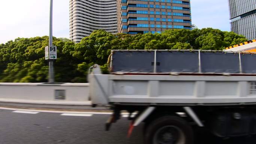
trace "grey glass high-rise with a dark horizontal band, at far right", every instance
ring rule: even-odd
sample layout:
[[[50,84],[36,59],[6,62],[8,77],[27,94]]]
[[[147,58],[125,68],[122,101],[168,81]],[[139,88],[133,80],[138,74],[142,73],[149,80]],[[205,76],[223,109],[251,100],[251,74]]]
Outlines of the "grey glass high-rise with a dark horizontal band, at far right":
[[[256,39],[256,0],[228,0],[231,31]]]

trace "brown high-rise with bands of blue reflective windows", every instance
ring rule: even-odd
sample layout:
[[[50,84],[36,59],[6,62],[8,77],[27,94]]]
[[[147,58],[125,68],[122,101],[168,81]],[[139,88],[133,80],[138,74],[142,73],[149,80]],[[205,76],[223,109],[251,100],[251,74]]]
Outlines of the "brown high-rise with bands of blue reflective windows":
[[[190,0],[117,0],[118,33],[191,30]]]

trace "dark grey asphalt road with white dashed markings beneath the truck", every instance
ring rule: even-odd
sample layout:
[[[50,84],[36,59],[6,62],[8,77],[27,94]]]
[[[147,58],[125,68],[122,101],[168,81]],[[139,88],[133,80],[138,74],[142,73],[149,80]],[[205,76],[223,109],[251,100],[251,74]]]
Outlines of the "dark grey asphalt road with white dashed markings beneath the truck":
[[[122,117],[104,131],[109,114],[69,114],[0,109],[0,144],[143,144],[143,124],[127,138],[129,121]],[[195,144],[255,144],[256,137],[222,140],[202,129]]]

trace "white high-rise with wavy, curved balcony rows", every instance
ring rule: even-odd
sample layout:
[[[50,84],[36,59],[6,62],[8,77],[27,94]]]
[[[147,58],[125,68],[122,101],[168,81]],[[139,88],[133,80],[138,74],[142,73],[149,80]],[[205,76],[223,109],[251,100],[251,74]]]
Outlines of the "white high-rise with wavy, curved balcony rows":
[[[117,33],[116,0],[70,0],[70,40],[80,42],[94,30]]]

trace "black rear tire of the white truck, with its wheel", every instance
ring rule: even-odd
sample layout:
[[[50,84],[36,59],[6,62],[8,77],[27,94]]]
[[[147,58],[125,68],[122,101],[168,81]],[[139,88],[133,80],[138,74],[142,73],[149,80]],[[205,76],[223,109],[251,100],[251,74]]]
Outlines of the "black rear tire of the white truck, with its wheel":
[[[180,117],[159,117],[147,126],[144,144],[193,144],[193,130]]]

